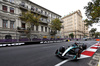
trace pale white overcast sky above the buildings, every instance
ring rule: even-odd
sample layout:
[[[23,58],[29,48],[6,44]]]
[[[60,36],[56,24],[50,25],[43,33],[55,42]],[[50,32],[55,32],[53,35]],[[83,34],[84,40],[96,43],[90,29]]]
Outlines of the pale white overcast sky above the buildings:
[[[86,19],[85,9],[88,2],[92,0],[30,0],[50,11],[53,11],[62,17],[76,11],[80,10],[83,16],[83,20]],[[99,28],[98,24],[94,24],[92,28]],[[98,31],[100,31],[98,29]]]

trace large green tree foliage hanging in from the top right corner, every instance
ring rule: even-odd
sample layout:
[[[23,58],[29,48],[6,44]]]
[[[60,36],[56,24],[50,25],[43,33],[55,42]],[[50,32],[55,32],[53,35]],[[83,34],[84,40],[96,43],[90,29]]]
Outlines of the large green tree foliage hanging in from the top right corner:
[[[100,0],[92,0],[88,2],[88,6],[85,6],[87,19],[86,25],[92,26],[93,23],[98,23],[100,20]]]

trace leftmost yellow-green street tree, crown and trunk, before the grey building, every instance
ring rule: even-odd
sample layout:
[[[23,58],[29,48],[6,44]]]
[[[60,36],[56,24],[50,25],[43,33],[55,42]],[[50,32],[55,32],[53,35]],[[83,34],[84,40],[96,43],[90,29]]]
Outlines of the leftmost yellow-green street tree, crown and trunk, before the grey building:
[[[22,12],[22,15],[19,17],[22,21],[26,22],[28,24],[28,28],[27,28],[27,36],[28,38],[30,38],[31,35],[31,31],[33,28],[33,25],[38,26],[39,25],[39,21],[40,21],[40,16],[39,15],[34,15],[33,13],[31,13],[31,11],[27,11],[27,12]]]

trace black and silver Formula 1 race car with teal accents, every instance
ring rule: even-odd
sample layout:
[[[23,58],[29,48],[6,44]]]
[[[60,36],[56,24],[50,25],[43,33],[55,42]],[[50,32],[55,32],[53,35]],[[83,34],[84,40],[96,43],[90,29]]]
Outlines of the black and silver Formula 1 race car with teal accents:
[[[74,43],[72,46],[69,46],[65,49],[64,46],[60,47],[56,50],[55,54],[57,57],[62,59],[70,59],[70,60],[77,60],[80,57],[83,50],[87,48],[87,45],[84,43]]]

